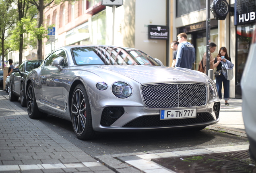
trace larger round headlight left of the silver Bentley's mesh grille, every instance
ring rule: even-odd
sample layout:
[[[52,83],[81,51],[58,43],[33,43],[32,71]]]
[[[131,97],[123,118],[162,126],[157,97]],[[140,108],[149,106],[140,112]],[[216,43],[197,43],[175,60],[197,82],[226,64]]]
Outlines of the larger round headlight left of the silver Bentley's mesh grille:
[[[132,87],[125,82],[115,82],[112,85],[112,93],[121,99],[125,99],[132,95]]]

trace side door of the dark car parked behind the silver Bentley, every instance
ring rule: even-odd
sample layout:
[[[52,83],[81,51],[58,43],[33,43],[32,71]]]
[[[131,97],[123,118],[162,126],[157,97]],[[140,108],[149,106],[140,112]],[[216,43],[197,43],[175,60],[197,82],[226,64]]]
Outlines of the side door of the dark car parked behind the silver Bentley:
[[[18,95],[18,96],[20,96],[21,80],[25,72],[25,63],[26,62],[22,62],[21,65],[19,66],[20,73],[19,72],[12,73],[12,76],[13,76],[12,91],[15,93],[15,95]]]

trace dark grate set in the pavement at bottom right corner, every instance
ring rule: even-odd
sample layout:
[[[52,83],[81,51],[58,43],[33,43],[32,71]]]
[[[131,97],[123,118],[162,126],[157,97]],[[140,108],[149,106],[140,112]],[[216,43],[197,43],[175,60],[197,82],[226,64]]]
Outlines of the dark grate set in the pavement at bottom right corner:
[[[256,173],[248,150],[152,159],[176,173]]]

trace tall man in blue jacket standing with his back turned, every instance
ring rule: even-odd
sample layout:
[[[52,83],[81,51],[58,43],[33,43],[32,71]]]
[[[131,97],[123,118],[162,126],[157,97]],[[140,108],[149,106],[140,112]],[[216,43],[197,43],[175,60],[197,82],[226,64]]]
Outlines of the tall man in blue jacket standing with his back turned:
[[[175,67],[192,69],[192,64],[196,60],[196,50],[190,42],[187,41],[187,34],[182,32],[177,36],[178,45]]]

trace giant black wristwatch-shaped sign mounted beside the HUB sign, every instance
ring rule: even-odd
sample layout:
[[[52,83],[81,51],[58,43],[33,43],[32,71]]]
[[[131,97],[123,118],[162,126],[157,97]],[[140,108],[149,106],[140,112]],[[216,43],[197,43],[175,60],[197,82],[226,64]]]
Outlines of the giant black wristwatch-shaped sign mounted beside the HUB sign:
[[[229,4],[226,0],[213,0],[210,9],[216,20],[225,20],[229,12]]]

